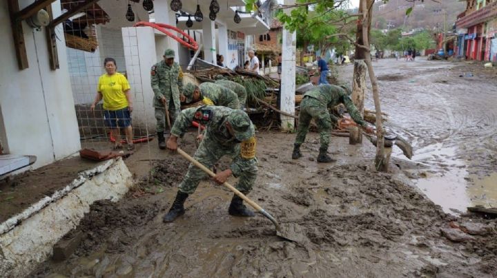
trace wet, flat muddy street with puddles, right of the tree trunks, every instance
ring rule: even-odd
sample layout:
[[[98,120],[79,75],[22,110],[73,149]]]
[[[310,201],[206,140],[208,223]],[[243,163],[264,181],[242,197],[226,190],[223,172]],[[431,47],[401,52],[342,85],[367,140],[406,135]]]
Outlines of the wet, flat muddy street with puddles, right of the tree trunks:
[[[448,213],[496,207],[497,71],[424,57],[373,65],[387,126],[413,144],[418,165],[402,165],[405,173]],[[351,78],[352,65],[338,69],[344,80]],[[374,107],[371,96],[366,107]]]

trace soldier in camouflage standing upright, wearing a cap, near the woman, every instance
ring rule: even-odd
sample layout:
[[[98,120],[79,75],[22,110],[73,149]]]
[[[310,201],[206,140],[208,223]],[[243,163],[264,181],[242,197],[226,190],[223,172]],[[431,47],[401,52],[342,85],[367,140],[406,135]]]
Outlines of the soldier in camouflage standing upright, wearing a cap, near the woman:
[[[183,72],[181,67],[174,61],[174,50],[167,49],[164,52],[164,60],[153,65],[150,71],[150,81],[154,92],[153,107],[155,108],[155,119],[157,120],[157,139],[160,149],[166,149],[164,129],[166,127],[166,109],[168,106],[171,125],[175,122],[180,111],[180,99],[183,91]]]

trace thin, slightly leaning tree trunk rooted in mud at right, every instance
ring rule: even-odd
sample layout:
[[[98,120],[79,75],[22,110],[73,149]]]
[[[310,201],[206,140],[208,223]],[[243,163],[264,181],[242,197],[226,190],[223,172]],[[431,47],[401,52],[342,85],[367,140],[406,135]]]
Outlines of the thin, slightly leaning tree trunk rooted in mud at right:
[[[362,41],[363,45],[369,47],[369,26],[371,25],[371,17],[369,16],[369,7],[372,7],[374,0],[361,0],[361,7],[363,10],[362,15]],[[365,23],[365,24],[364,24]],[[376,158],[375,167],[378,171],[388,171],[388,158],[385,156],[384,151],[384,131],[381,116],[380,107],[380,92],[378,92],[378,80],[374,74],[373,64],[371,63],[371,52],[365,51],[365,60],[369,74],[369,80],[371,81],[371,87],[373,87],[373,100],[376,109]]]

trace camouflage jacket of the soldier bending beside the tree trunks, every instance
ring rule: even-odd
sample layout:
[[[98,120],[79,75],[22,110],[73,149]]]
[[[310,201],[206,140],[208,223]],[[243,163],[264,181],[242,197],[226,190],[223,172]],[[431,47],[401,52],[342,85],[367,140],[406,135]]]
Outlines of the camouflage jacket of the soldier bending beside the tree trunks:
[[[352,102],[352,98],[345,92],[344,89],[335,85],[319,85],[307,91],[304,96],[310,96],[319,100],[320,105],[327,108],[333,108],[340,103],[345,105],[349,115],[359,125],[365,127],[367,124],[362,119],[358,109]]]

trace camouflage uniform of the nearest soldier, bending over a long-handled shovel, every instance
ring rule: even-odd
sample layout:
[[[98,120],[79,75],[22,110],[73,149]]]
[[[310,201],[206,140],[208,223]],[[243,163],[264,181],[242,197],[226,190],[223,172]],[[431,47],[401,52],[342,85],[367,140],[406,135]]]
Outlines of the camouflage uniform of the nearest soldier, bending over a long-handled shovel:
[[[235,188],[245,194],[249,193],[257,177],[255,131],[249,116],[246,116],[244,111],[233,110],[228,107],[201,106],[188,108],[179,114],[173,129],[171,129],[171,134],[177,137],[184,136],[193,120],[206,125],[204,139],[195,152],[194,158],[207,168],[212,168],[222,156],[230,156],[233,158],[230,169],[233,175],[239,178]],[[230,122],[231,126],[234,127],[235,137],[231,136],[226,128],[226,121]],[[237,133],[235,126],[244,126],[246,131]],[[206,177],[207,174],[204,171],[190,164],[188,172],[181,184],[179,184],[179,191],[192,194],[197,189],[200,180]]]

